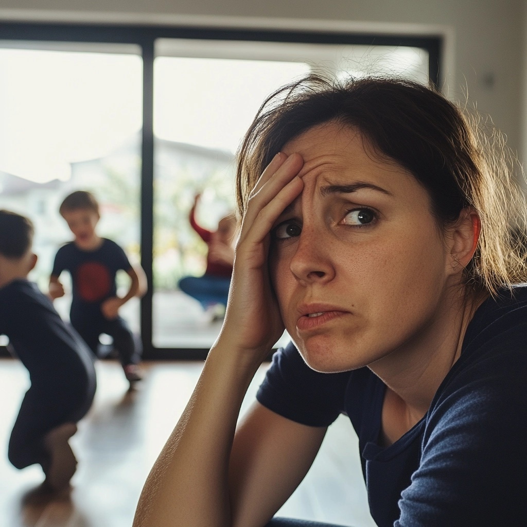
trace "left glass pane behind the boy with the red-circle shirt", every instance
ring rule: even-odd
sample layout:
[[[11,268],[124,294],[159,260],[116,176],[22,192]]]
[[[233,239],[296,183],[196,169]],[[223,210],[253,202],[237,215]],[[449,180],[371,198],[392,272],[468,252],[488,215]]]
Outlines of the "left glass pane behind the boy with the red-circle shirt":
[[[32,44],[35,46],[35,44]],[[89,190],[101,205],[97,232],[139,263],[142,59],[137,46],[86,45],[90,51],[16,48],[0,42],[0,207],[30,217],[38,264],[30,279],[47,292],[57,248],[72,239],[58,213],[74,190]],[[39,47],[41,44],[39,44]],[[72,44],[76,50],[82,45]],[[121,272],[121,271],[120,271]],[[71,284],[64,273],[67,291]],[[124,272],[121,289],[128,287]],[[55,300],[69,318],[71,295]],[[139,331],[139,300],[122,307]]]

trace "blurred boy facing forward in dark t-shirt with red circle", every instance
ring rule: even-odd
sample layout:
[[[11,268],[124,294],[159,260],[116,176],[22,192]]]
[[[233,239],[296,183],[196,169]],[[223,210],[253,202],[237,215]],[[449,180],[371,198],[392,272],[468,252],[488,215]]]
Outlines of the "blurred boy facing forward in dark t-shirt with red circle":
[[[99,203],[90,192],[77,190],[62,202],[59,212],[73,232],[74,240],[58,249],[50,277],[50,296],[64,295],[58,280],[67,270],[72,277],[70,320],[94,355],[99,352],[101,333],[113,338],[126,379],[130,385],[141,379],[138,363],[141,350],[119,308],[130,298],[142,296],[146,280],[140,266],[132,266],[123,249],[96,233]],[[131,279],[124,297],[117,296],[115,276],[124,270]]]

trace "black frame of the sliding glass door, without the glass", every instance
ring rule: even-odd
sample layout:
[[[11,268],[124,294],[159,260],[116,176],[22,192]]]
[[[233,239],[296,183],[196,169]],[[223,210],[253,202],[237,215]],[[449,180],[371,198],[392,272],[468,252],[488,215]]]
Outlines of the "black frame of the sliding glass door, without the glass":
[[[428,75],[431,82],[441,84],[442,38],[437,35],[372,34],[344,31],[261,30],[253,28],[219,28],[199,26],[115,25],[115,24],[51,24],[1,22],[0,40],[61,43],[135,44],[141,48],[143,60],[143,126],[141,145],[141,265],[147,275],[149,289],[141,299],[141,338],[145,360],[202,360],[208,349],[155,348],[152,345],[152,249],[153,249],[153,73],[154,45],[158,38],[194,40],[261,41],[304,44],[347,44],[376,46],[411,46],[428,52]],[[0,355],[8,355],[0,348]]]

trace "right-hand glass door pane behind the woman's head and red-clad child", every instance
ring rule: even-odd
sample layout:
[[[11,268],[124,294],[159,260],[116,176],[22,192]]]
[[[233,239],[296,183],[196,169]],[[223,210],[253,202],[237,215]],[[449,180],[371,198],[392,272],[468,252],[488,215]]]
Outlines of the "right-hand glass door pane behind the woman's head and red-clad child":
[[[182,277],[201,278],[206,270],[207,245],[190,226],[189,211],[201,194],[196,221],[213,231],[233,209],[235,152],[260,104],[317,70],[337,77],[389,72],[427,82],[428,55],[387,46],[160,39],[156,56],[153,345],[209,348],[221,316],[214,318],[207,302],[219,300],[178,286]],[[278,345],[287,340],[284,334]]]

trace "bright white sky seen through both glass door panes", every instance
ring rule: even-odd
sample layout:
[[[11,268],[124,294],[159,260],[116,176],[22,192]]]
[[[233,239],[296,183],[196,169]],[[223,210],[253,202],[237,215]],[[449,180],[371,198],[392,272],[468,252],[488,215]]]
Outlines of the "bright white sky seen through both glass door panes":
[[[160,57],[155,134],[234,152],[260,103],[304,74],[301,63]],[[33,181],[70,177],[141,128],[136,55],[0,49],[0,170]]]

